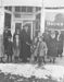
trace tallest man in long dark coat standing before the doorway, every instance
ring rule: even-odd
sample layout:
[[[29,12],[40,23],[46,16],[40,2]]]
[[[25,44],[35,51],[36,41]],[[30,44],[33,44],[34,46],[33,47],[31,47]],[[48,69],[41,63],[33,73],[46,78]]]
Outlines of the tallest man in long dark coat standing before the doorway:
[[[22,58],[23,62],[27,61],[27,58],[30,58],[30,35],[28,35],[28,26],[24,26],[23,31],[21,32],[21,54],[20,57]]]

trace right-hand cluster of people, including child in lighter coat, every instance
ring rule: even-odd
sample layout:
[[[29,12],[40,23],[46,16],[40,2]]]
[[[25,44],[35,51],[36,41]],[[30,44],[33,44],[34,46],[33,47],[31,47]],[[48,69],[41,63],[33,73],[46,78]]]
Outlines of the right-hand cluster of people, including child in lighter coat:
[[[33,56],[35,61],[39,65],[49,62],[55,62],[56,57],[63,55],[63,34],[56,31],[49,31],[34,39]]]

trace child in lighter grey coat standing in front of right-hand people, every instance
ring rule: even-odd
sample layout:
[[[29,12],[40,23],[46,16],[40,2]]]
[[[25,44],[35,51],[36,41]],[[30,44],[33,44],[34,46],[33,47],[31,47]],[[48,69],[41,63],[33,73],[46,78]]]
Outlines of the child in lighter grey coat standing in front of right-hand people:
[[[42,62],[46,63],[44,57],[47,56],[47,51],[48,51],[47,44],[44,43],[44,39],[41,36],[38,43],[38,55],[37,55],[39,66],[41,66]]]

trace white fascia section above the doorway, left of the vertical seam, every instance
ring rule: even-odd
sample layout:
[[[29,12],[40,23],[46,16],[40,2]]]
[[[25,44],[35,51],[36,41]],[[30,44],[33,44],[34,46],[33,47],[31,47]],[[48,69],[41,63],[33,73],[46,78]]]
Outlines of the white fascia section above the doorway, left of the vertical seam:
[[[26,7],[42,7],[42,0],[0,0],[2,5],[26,5]]]

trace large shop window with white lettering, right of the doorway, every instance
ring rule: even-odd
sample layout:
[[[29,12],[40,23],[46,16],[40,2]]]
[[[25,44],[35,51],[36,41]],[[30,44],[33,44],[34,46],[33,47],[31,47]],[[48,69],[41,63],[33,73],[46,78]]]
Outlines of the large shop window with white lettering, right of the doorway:
[[[64,12],[55,12],[55,11],[46,12],[44,19],[46,28],[64,31]]]

